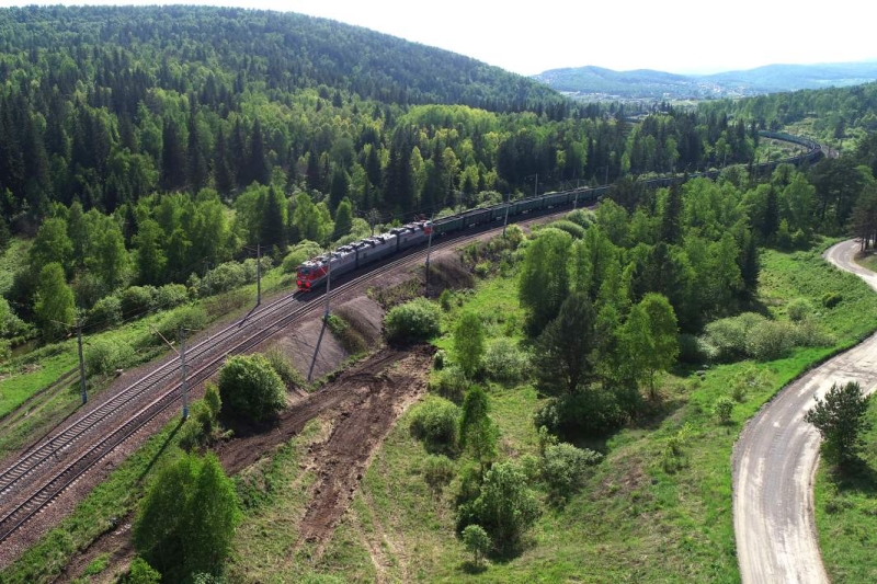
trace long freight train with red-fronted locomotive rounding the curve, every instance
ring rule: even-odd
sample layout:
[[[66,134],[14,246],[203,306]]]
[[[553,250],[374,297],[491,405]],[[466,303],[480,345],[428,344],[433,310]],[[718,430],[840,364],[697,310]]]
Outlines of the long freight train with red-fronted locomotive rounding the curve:
[[[822,157],[821,147],[809,139],[775,131],[760,131],[760,136],[775,140],[784,140],[807,148],[807,151],[782,160],[756,164],[759,172],[773,171],[777,164],[790,163],[800,165],[812,163]],[[639,181],[652,188],[670,186],[674,183],[691,178],[706,176],[717,179],[718,170],[710,170],[684,176],[663,176]],[[312,257],[296,270],[296,285],[300,291],[309,291],[326,283],[331,271],[332,277],[341,276],[363,267],[372,262],[377,262],[390,254],[399,253],[409,248],[426,242],[430,237],[444,236],[470,227],[504,220],[522,214],[542,211],[551,208],[561,208],[578,205],[593,205],[608,191],[610,185],[597,187],[573,188],[559,193],[546,193],[538,196],[520,198],[508,203],[500,203],[490,207],[470,209],[457,215],[442,217],[435,221],[414,221],[403,227],[390,229],[386,233],[373,236],[337,250]]]

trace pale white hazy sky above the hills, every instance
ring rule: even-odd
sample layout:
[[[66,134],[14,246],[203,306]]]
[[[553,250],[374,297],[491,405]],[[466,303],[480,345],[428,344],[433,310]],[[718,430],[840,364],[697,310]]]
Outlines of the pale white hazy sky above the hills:
[[[868,2],[834,0],[93,0],[219,4],[326,16],[462,53],[523,75],[597,65],[715,72],[877,58]]]

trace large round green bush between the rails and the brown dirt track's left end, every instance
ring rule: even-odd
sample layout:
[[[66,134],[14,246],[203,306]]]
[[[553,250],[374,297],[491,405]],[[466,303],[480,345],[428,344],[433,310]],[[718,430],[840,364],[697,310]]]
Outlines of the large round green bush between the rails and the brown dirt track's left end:
[[[223,411],[257,422],[286,405],[283,380],[262,355],[229,357],[219,371],[219,397]]]

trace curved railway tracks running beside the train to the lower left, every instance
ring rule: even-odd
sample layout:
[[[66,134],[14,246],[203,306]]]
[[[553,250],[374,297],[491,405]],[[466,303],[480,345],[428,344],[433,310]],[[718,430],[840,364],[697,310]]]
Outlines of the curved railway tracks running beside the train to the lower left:
[[[776,135],[770,137],[785,139]],[[809,162],[821,156],[819,145],[815,142],[804,144],[805,140],[800,139],[788,141],[807,146],[808,151],[799,157],[759,164],[760,169],[775,168],[779,162]],[[710,176],[709,173],[706,175]],[[670,178],[642,182],[653,186],[665,186],[682,180],[684,179]],[[578,188],[562,193],[569,195],[566,197],[558,196],[561,193],[532,197],[534,202],[539,199],[539,204],[527,206],[528,213],[510,218],[510,222],[546,217],[561,210],[565,213],[568,207],[577,203],[585,205],[595,203],[607,188],[607,186]],[[590,196],[581,202],[576,196],[573,203],[572,195],[576,193],[586,193]],[[520,205],[521,201],[511,204]],[[437,252],[488,231],[500,231],[502,228],[497,225],[494,218],[481,225],[464,226],[463,231],[445,234],[442,241],[434,242],[432,249]],[[425,247],[421,244],[402,256],[390,257],[371,265],[364,273],[354,272],[344,276],[342,284],[334,286],[331,291],[333,295],[340,295],[366,285],[425,255]],[[306,298],[298,293],[291,294],[254,310],[242,320],[189,347],[187,382],[191,387],[197,386],[218,369],[227,355],[250,351],[291,323],[321,310],[322,304],[317,301],[320,298],[322,295]],[[171,408],[180,399],[181,386],[174,380],[179,374],[176,360],[167,360],[102,403],[93,405],[82,415],[71,416],[73,419],[69,424],[54,435],[37,440],[10,467],[0,471],[0,542],[9,539],[83,473],[95,468],[98,462],[116,447]],[[62,461],[59,455],[67,457],[68,460]]]

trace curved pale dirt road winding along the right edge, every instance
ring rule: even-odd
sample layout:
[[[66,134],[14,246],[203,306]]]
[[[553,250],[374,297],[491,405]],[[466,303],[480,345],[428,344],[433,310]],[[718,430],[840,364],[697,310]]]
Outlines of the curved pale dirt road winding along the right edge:
[[[877,290],[877,274],[858,266],[858,243],[824,254]],[[733,528],[744,583],[828,584],[813,518],[819,434],[804,414],[834,382],[877,385],[877,335],[788,385],[752,419],[733,451]]]

